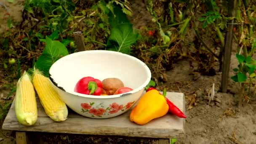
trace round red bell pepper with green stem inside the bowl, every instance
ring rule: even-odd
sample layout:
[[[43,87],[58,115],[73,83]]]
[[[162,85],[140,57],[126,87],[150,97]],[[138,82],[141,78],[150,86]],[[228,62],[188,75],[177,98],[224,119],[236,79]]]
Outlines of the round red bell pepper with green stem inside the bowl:
[[[75,85],[75,92],[88,95],[100,96],[102,83],[93,77],[83,77]]]

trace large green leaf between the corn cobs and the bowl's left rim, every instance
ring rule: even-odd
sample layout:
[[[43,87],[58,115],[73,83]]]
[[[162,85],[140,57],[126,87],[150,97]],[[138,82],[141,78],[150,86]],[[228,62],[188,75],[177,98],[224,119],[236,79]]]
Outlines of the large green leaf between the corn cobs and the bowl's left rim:
[[[42,71],[45,76],[48,76],[51,65],[69,53],[65,45],[57,40],[51,40],[49,37],[46,37],[45,44],[43,53],[37,59],[35,67]]]

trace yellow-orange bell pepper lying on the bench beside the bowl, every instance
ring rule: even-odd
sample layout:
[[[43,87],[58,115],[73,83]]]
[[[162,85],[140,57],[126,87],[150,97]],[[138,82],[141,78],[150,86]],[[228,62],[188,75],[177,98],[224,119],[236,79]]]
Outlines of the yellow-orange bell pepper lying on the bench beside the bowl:
[[[130,121],[138,125],[144,125],[153,119],[163,117],[167,114],[168,109],[165,97],[157,90],[151,90],[145,93],[132,109]]]

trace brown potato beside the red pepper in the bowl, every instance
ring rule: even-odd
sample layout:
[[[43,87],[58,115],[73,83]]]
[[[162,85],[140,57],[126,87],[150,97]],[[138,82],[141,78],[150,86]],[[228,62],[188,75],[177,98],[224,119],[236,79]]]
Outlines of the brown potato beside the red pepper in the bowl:
[[[118,78],[106,78],[102,80],[102,88],[104,88],[107,95],[113,95],[121,87],[124,87],[124,84]]]

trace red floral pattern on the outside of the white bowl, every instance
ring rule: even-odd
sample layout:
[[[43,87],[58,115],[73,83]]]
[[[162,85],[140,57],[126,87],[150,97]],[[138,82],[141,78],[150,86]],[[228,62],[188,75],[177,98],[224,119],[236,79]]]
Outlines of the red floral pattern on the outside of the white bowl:
[[[83,113],[89,113],[91,114],[91,117],[102,117],[102,115],[110,115],[115,114],[117,112],[124,111],[126,109],[129,109],[135,101],[128,102],[125,106],[123,104],[117,104],[116,102],[113,102],[112,104],[109,104],[109,107],[104,109],[103,103],[100,103],[99,105],[95,106],[94,102],[88,103],[81,103],[82,111]]]

